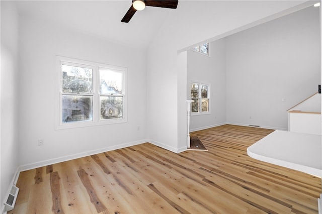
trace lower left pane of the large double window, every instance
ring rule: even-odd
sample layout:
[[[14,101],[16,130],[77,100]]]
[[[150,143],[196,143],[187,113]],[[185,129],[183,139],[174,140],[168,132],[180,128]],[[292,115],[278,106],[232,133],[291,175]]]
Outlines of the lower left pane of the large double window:
[[[62,122],[92,121],[92,95],[62,95]]]

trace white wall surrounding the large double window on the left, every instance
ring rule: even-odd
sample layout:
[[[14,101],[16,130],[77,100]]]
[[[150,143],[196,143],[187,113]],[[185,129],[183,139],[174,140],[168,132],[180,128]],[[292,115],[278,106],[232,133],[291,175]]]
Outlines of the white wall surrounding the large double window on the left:
[[[146,54],[46,20],[20,17],[22,168],[146,142]],[[55,130],[55,55],[128,68],[128,122]],[[139,127],[139,130],[138,130]],[[38,139],[44,140],[38,146]]]

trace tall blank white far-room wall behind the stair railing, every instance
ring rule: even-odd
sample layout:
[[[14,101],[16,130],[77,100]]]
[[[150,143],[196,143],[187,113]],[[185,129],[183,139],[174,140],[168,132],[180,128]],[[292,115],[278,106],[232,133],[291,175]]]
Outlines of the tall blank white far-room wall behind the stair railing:
[[[227,123],[287,130],[286,111],[320,84],[319,8],[236,33],[226,42]]]

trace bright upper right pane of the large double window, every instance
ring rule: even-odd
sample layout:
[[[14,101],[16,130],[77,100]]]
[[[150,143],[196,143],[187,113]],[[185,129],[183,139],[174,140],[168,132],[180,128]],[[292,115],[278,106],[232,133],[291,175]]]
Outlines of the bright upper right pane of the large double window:
[[[100,68],[100,93],[122,94],[122,72]]]

